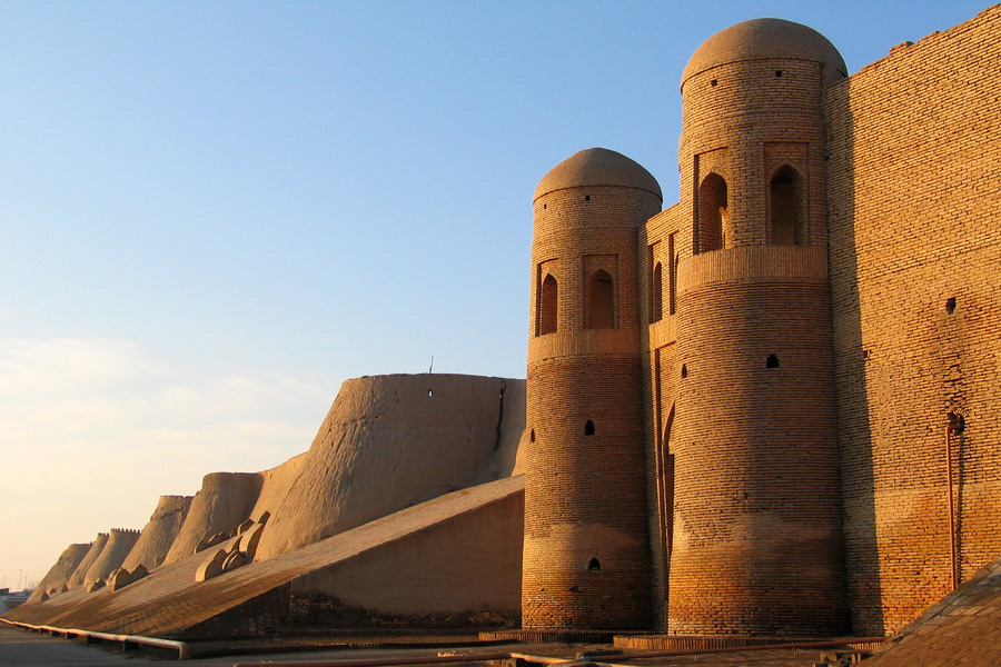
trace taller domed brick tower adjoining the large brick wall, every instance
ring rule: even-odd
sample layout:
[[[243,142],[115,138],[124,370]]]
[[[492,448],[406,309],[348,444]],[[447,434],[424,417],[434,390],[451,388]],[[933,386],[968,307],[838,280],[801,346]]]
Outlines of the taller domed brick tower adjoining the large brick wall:
[[[672,634],[846,629],[822,110],[844,76],[777,19],[711,37],[682,76]]]

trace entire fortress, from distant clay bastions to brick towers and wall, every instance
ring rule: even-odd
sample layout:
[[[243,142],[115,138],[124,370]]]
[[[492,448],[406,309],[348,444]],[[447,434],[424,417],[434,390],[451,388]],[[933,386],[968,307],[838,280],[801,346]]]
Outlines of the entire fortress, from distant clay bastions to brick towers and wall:
[[[603,148],[536,189],[526,382],[348,380],[307,452],[71,545],[7,617],[901,629],[1001,556],[999,72],[1001,6],[851,77],[805,26],[711,37],[680,201]]]

